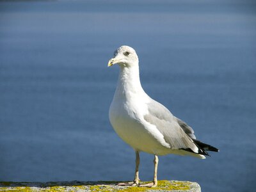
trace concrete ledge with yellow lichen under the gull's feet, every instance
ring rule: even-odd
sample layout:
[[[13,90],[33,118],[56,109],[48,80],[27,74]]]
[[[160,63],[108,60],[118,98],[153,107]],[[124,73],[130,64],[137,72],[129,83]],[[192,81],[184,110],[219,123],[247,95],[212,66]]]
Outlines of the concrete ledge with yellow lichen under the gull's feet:
[[[116,181],[0,182],[0,191],[201,191],[199,184],[196,182],[178,180],[159,180],[156,188],[116,186],[116,184]]]

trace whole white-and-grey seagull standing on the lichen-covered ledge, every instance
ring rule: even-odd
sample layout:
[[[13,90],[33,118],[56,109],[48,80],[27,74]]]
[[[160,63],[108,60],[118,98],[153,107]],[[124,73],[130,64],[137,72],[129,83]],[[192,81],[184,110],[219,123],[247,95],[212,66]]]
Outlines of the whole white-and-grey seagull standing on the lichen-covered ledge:
[[[196,140],[188,124],[172,115],[162,104],[151,99],[140,83],[139,59],[132,47],[123,45],[114,52],[108,67],[118,64],[115,95],[109,108],[109,121],[115,132],[130,145],[136,154],[135,175],[132,182],[120,186],[157,186],[158,157],[166,154],[188,155],[205,159],[207,150],[218,148]],[[140,184],[140,152],[154,155],[154,179]]]

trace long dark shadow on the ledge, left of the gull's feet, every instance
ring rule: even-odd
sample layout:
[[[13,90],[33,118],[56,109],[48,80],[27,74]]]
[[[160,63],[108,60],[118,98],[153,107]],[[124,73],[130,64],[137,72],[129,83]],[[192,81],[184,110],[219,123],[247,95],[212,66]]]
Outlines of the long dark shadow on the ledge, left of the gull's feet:
[[[0,188],[9,187],[35,187],[35,188],[49,188],[55,186],[97,186],[97,185],[116,185],[116,181],[61,181],[61,182],[0,182]]]

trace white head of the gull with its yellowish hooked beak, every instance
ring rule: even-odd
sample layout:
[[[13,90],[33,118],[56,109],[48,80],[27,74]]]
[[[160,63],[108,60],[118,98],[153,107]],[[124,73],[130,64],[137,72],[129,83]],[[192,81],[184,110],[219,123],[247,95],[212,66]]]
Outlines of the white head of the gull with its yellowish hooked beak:
[[[133,67],[138,65],[138,56],[132,47],[123,45],[114,52],[114,57],[108,61],[108,67],[118,64],[120,67]]]

